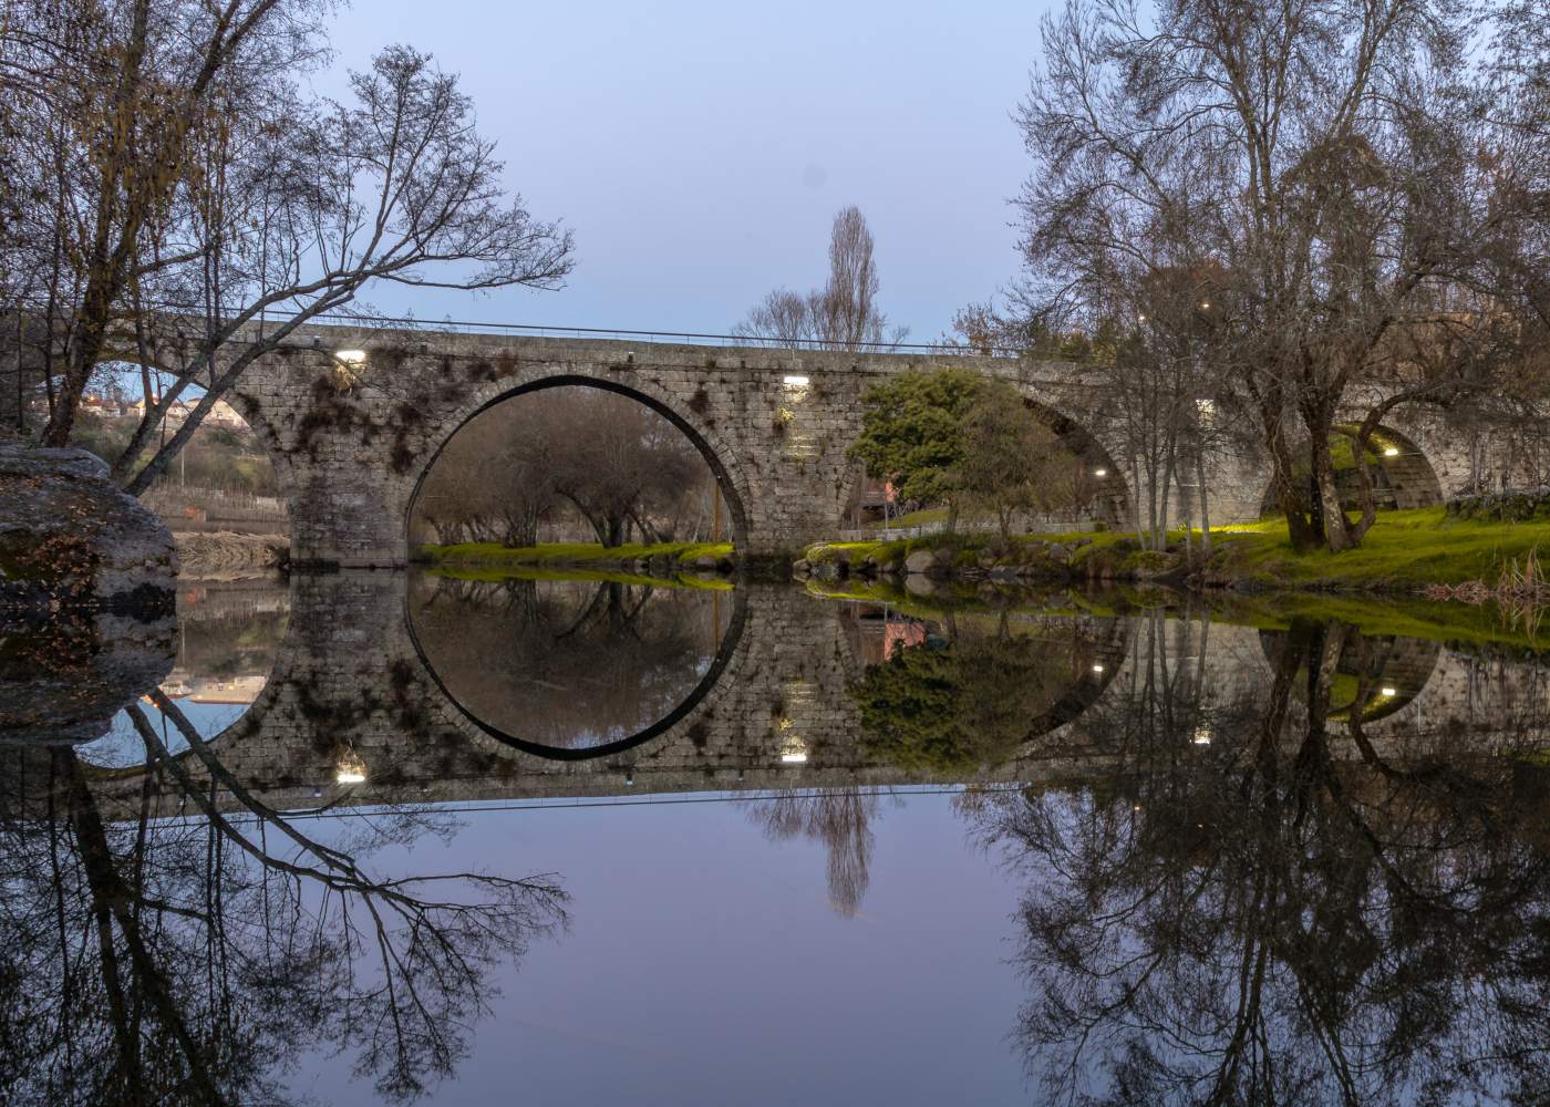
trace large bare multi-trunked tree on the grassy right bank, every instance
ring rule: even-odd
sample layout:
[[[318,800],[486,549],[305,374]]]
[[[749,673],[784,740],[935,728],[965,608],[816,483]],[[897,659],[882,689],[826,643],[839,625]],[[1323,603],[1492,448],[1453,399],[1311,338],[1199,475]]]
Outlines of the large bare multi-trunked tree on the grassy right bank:
[[[1366,448],[1397,406],[1490,389],[1522,349],[1547,171],[1493,118],[1472,26],[1442,0],[1110,0],[1045,23],[1018,113],[1026,298],[1132,333],[1125,288],[1215,268],[1190,327],[1254,416],[1299,547],[1372,526],[1372,488],[1348,519],[1328,456],[1353,406]]]

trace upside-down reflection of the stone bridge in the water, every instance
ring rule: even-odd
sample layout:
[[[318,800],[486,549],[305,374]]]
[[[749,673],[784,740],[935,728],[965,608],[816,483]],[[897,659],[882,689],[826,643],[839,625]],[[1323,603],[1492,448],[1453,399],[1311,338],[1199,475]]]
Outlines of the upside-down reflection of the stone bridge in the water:
[[[310,808],[319,798],[470,802],[922,780],[879,764],[860,743],[846,688],[871,648],[859,643],[865,633],[848,605],[792,588],[739,589],[741,631],[718,679],[671,724],[603,757],[555,760],[487,735],[448,699],[408,633],[406,586],[405,574],[386,572],[291,580],[293,617],[274,673],[253,709],[215,740],[236,780],[279,808]],[[1167,637],[1176,637],[1175,626]],[[1104,704],[1150,679],[1158,639],[1142,640],[1135,623],[1099,617],[1076,617],[1073,628],[1093,643],[1091,673],[1073,681],[1046,726],[1031,721],[1029,741],[986,781],[1090,778],[1100,771],[1116,722]],[[1211,625],[1209,648],[1192,645],[1175,664],[1195,670],[1207,710],[1252,696],[1269,673],[1260,633],[1223,623]],[[1380,710],[1364,716],[1378,744],[1420,730],[1468,736],[1507,726],[1500,707],[1510,698],[1477,698],[1474,664],[1448,650],[1434,657],[1431,650],[1401,648],[1392,673],[1372,676],[1381,679],[1366,704]],[[804,761],[789,758],[792,740]],[[338,783],[344,758],[364,763],[364,785]],[[140,788],[108,785],[118,786]]]

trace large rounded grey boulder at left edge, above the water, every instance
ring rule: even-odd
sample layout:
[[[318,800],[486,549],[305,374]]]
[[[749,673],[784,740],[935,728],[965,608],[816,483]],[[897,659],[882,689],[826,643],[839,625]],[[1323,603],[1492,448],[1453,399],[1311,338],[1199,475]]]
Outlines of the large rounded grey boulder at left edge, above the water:
[[[0,437],[0,606],[172,609],[172,533],[84,450]]]

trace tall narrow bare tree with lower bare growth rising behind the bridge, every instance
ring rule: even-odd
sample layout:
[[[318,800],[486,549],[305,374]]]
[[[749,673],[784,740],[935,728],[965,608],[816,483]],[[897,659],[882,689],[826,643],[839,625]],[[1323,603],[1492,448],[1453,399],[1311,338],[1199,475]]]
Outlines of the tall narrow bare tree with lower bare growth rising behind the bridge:
[[[888,327],[888,316],[877,307],[877,288],[871,229],[860,208],[851,205],[834,216],[829,279],[823,288],[814,288],[806,296],[777,288],[732,333],[845,350],[904,341],[908,329]]]

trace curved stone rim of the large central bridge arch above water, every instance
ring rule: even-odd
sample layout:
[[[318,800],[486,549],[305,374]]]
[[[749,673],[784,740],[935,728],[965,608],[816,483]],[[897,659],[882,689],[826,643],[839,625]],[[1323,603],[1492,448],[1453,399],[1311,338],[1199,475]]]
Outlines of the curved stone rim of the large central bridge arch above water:
[[[405,501],[405,535],[409,535],[411,532],[414,507],[420,498],[422,488],[425,487],[426,476],[436,467],[436,462],[442,456],[442,451],[446,450],[446,445],[477,416],[501,403],[535,392],[555,388],[594,388],[603,392],[622,395],[649,408],[656,414],[666,419],[680,434],[684,434],[684,437],[690,440],[696,453],[699,453],[699,456],[705,460],[705,465],[710,468],[711,476],[725,498],[727,512],[732,519],[733,546],[738,549],[747,547],[747,504],[752,499],[752,491],[736,460],[736,451],[721,439],[711,425],[699,419],[690,405],[679,403],[677,397],[670,395],[654,383],[640,378],[623,378],[625,374],[615,374],[604,369],[569,366],[564,371],[532,372],[527,380],[521,380],[522,375],[524,374],[518,374],[516,381],[502,380],[498,385],[480,389],[473,395],[471,402],[459,411],[457,417],[446,419],[436,428],[429,448],[417,462],[414,487]]]

